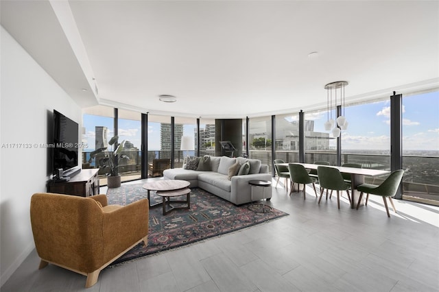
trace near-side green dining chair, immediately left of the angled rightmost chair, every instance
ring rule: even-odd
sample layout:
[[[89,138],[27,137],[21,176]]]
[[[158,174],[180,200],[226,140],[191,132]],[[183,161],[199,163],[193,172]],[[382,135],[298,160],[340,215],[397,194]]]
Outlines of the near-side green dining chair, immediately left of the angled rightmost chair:
[[[334,167],[317,167],[318,181],[322,191],[320,192],[320,199],[318,199],[318,204],[322,200],[324,189],[337,191],[337,206],[340,209],[340,191],[346,191],[348,194],[349,202],[351,202],[351,195],[349,195],[349,190],[351,189],[351,184],[345,182],[342,173]]]

